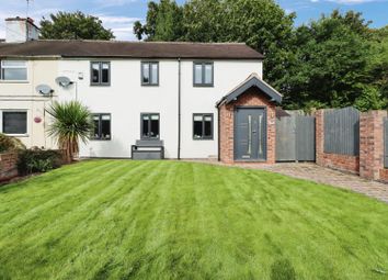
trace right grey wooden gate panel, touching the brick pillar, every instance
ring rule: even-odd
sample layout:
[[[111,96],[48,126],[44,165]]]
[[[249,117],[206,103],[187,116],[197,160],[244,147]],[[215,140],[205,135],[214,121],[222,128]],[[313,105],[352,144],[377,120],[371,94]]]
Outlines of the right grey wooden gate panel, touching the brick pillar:
[[[311,115],[296,116],[296,154],[297,160],[316,160],[316,117]]]

